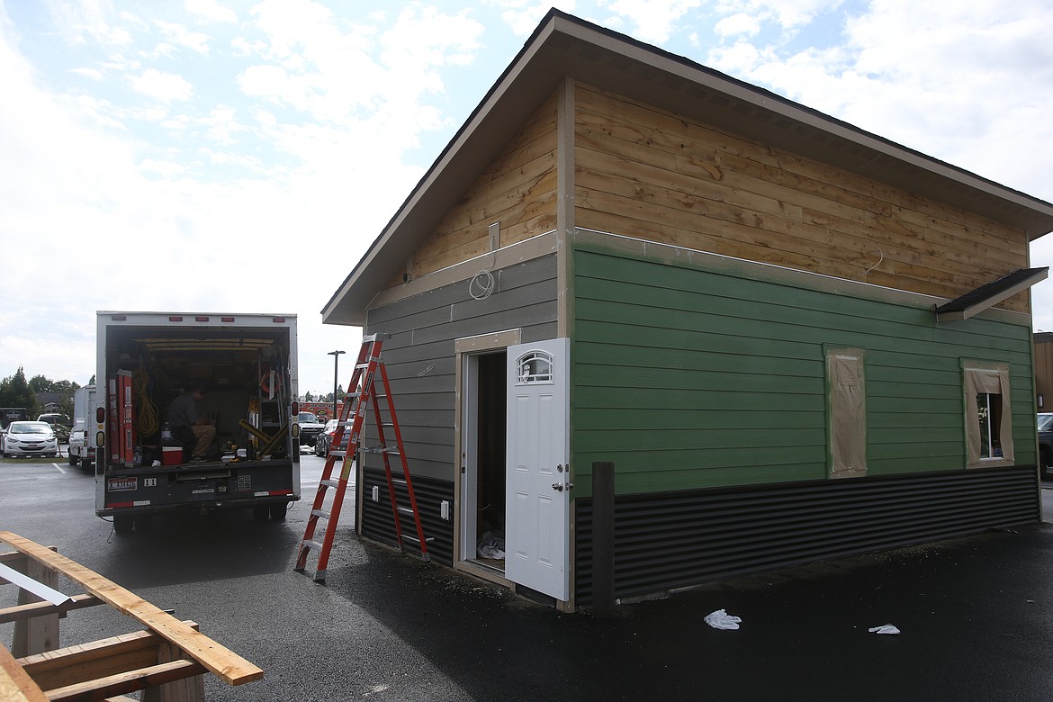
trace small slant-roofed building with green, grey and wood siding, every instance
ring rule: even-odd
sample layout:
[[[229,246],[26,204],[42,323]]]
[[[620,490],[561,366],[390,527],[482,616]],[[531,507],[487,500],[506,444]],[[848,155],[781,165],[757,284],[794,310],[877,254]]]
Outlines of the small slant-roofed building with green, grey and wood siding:
[[[1051,229],[1048,202],[553,11],[323,320],[391,335],[432,559],[571,610],[597,462],[622,601],[1037,522]],[[390,542],[383,485],[366,458],[356,528]]]

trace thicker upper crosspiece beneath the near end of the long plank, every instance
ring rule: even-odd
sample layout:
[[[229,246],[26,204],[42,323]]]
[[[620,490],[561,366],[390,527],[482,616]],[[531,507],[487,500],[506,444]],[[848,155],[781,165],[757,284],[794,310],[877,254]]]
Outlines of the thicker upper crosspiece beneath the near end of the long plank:
[[[183,623],[198,628],[197,622]],[[163,662],[158,660],[162,643],[155,631],[135,631],[27,656],[18,663],[38,685],[52,689]]]

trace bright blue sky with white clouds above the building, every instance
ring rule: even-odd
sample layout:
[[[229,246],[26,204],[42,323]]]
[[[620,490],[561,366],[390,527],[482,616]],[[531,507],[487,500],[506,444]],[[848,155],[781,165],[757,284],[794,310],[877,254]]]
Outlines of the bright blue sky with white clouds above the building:
[[[332,389],[319,310],[551,4],[1053,201],[1049,0],[0,0],[0,378],[85,384],[97,309],[295,313]]]

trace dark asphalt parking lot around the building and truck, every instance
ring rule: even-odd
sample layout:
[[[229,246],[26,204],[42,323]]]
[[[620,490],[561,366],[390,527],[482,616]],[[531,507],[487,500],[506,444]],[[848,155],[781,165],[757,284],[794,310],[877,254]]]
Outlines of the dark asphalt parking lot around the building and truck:
[[[322,461],[302,464],[313,495]],[[208,680],[210,700],[1053,697],[1051,524],[741,578],[603,620],[363,543],[350,518],[318,585],[291,569],[305,502],[284,523],[184,516],[118,537],[93,489],[64,462],[2,461],[0,528],[56,545],[265,670],[237,688]],[[706,624],[721,608],[738,630]],[[900,634],[868,630],[882,624]],[[136,627],[95,607],[61,628],[65,645]],[[11,625],[0,637],[11,643]]]

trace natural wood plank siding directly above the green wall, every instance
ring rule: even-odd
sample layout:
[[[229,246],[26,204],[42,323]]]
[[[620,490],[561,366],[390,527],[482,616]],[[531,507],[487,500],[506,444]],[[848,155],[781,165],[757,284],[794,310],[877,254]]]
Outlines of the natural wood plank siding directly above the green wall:
[[[575,98],[578,227],[950,299],[1028,265],[1013,228],[588,85]]]

